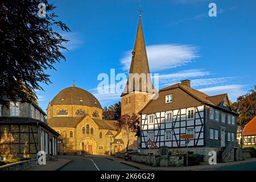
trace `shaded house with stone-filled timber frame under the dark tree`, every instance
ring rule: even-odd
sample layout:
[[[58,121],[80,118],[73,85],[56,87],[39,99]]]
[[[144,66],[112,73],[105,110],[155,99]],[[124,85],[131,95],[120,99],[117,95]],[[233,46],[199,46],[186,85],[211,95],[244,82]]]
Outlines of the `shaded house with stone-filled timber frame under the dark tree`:
[[[0,105],[0,156],[36,158],[44,151],[47,160],[55,159],[59,134],[47,125],[46,113],[34,102],[7,102],[9,108]]]

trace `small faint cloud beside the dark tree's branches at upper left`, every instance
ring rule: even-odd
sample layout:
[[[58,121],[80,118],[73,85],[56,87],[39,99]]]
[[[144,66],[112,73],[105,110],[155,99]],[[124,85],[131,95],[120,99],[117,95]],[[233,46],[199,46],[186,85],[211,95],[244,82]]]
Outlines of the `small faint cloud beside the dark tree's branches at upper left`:
[[[72,51],[73,49],[79,48],[82,45],[81,36],[76,32],[65,32],[60,34],[64,39],[69,40],[68,43],[64,43],[63,46]],[[65,50],[64,50],[65,51]]]

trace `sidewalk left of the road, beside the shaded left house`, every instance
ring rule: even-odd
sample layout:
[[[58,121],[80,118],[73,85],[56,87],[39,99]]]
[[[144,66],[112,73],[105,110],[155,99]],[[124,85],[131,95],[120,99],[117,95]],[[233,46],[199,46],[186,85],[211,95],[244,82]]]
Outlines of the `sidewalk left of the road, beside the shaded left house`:
[[[71,160],[59,159],[56,161],[47,161],[46,165],[37,165],[24,171],[58,171],[61,167],[70,163]]]

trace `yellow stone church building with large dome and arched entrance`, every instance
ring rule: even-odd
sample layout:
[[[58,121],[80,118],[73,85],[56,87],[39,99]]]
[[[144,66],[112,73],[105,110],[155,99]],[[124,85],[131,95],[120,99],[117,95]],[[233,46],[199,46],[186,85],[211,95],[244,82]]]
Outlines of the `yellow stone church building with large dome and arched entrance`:
[[[61,134],[59,154],[104,155],[125,151],[127,137],[114,125],[103,120],[100,102],[91,93],[75,85],[61,90],[49,102],[48,125]],[[136,138],[129,141],[136,149]]]

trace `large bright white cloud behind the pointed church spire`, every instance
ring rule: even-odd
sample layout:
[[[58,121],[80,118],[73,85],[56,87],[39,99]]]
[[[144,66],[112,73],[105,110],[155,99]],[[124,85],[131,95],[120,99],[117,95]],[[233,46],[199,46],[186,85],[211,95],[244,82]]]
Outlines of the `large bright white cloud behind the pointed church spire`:
[[[191,45],[159,44],[146,48],[151,72],[180,67],[199,57],[197,47]],[[130,63],[131,51],[127,51],[121,59],[125,71],[130,69]]]

